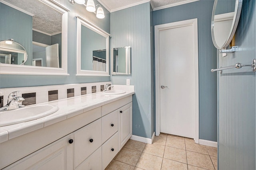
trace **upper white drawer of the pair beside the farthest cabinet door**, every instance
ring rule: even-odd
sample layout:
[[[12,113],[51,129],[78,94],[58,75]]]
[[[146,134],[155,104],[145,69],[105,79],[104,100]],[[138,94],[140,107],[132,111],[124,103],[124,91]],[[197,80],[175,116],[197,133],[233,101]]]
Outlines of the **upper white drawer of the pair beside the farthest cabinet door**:
[[[102,121],[102,143],[107,141],[118,131],[118,110],[101,118]]]

